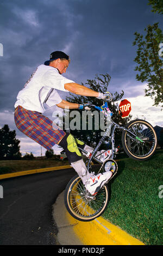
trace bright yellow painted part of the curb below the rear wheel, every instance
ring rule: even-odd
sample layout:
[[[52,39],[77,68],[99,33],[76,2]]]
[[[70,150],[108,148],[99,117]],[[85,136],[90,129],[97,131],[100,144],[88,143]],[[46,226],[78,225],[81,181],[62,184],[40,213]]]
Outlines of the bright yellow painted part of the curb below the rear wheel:
[[[74,218],[67,211],[66,218],[74,224]],[[91,222],[77,221],[73,230],[84,245],[145,245],[102,217]]]

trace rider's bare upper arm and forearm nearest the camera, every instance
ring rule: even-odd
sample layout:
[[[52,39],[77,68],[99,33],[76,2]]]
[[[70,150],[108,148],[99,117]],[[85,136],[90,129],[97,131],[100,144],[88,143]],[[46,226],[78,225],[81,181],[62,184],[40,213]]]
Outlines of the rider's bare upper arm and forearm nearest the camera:
[[[90,88],[87,88],[83,85],[76,84],[75,82],[71,82],[69,84],[65,84],[65,89],[74,94],[79,94],[81,96],[90,96],[90,97],[98,97],[99,92],[95,92]]]

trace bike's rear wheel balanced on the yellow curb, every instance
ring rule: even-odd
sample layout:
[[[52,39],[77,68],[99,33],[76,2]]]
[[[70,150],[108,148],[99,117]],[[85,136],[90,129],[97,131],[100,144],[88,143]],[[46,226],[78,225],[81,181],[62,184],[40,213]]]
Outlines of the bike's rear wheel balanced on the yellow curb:
[[[102,215],[109,203],[109,189],[103,186],[96,196],[91,196],[77,175],[65,189],[65,205],[70,215],[79,221],[88,222]]]

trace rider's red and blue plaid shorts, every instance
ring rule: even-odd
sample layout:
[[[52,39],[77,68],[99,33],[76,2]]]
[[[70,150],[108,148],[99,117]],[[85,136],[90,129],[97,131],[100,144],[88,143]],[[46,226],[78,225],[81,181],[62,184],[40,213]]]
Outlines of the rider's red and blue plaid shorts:
[[[22,106],[17,106],[14,117],[17,128],[47,150],[57,144],[66,134],[48,117],[37,111],[24,109]]]

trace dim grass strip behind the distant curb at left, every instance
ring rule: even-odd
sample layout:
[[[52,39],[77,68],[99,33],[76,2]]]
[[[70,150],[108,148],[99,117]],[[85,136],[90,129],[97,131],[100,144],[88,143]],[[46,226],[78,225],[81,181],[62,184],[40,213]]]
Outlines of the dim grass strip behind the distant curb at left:
[[[55,159],[0,160],[0,175],[62,165],[70,165],[70,163]]]

